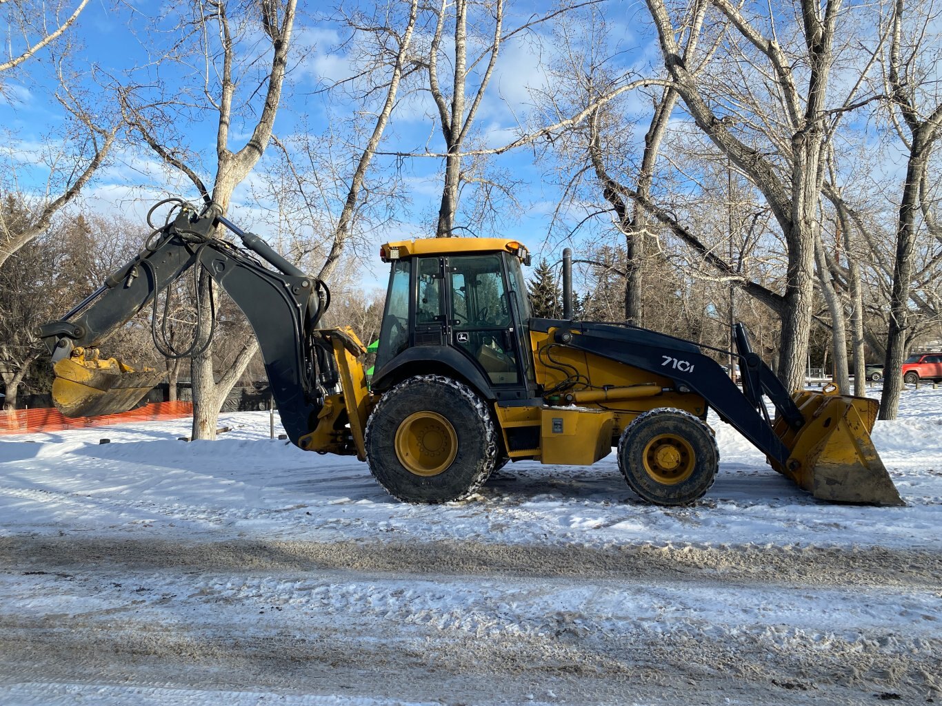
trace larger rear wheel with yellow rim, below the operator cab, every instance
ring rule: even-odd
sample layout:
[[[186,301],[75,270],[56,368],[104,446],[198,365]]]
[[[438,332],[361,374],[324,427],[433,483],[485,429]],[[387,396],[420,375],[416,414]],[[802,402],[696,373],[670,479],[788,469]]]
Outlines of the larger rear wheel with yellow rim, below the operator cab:
[[[488,405],[463,383],[433,375],[409,377],[382,394],[365,446],[370,473],[406,503],[464,500],[497,459]]]

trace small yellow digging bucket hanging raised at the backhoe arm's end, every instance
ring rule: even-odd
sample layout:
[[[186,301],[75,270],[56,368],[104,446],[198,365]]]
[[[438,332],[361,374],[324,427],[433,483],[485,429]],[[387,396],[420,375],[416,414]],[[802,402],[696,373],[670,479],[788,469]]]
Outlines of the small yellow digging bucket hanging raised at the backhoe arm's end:
[[[136,372],[114,358],[100,360],[97,350],[83,348],[75,348],[71,358],[57,361],[53,370],[53,404],[66,417],[117,414],[131,409],[164,377],[148,369]]]

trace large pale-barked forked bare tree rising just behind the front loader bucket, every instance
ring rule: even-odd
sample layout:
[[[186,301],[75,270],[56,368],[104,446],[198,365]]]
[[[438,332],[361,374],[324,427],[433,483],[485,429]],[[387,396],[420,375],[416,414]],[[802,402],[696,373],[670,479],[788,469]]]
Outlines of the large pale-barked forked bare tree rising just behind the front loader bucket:
[[[749,110],[761,105],[748,86],[736,87],[745,88],[738,97],[712,95],[711,89],[722,87],[707,87],[690,72],[664,0],[647,2],[658,28],[664,65],[687,110],[716,148],[762,192],[782,229],[788,265],[778,375],[789,388],[799,388],[811,323],[822,157],[828,119],[833,115],[826,97],[841,3],[829,0],[821,8],[803,0],[798,8],[800,44],[794,42],[788,49],[781,43],[779,21],[771,11],[765,17],[747,17],[742,8],[726,0],[711,4],[743,42],[730,47],[744,59],[741,70],[748,67],[768,91],[771,105],[780,108],[773,115],[761,110],[743,114],[739,106]],[[850,107],[847,99],[840,109]]]

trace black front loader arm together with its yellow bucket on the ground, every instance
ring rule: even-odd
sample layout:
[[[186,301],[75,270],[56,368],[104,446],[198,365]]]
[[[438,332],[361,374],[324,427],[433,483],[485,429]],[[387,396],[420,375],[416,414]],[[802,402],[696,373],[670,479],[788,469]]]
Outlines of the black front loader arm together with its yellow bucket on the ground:
[[[734,333],[742,390],[699,345],[657,331],[593,322],[560,322],[556,343],[674,379],[696,393],[768,458],[771,467],[821,500],[904,505],[869,433],[876,400],[838,394],[789,394],[751,349],[746,331]],[[769,418],[763,396],[776,410]]]

